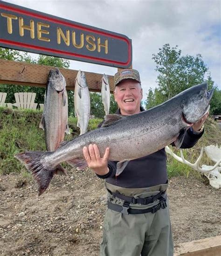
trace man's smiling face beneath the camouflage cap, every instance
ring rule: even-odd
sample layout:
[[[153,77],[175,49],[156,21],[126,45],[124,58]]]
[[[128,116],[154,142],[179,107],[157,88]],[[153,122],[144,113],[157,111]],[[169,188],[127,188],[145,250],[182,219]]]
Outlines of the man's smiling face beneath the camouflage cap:
[[[133,115],[140,112],[143,92],[140,84],[132,79],[121,81],[114,90],[114,98],[122,115]]]

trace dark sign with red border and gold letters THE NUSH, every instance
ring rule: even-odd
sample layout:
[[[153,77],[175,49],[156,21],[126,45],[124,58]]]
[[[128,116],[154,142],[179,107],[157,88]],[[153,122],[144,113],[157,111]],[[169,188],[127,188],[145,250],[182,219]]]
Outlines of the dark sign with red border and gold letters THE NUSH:
[[[125,35],[7,2],[0,2],[0,46],[117,68],[132,62]]]

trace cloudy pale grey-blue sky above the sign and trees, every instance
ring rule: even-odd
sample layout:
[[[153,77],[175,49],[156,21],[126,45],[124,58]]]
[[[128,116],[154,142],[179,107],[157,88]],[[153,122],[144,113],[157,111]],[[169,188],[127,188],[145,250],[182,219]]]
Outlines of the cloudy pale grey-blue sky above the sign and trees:
[[[7,2],[128,36],[132,67],[144,91],[157,86],[152,54],[169,43],[182,55],[201,54],[221,90],[221,0],[7,0]],[[70,69],[114,75],[117,68],[70,61]],[[207,77],[207,74],[206,74]],[[206,78],[205,77],[205,78]]]

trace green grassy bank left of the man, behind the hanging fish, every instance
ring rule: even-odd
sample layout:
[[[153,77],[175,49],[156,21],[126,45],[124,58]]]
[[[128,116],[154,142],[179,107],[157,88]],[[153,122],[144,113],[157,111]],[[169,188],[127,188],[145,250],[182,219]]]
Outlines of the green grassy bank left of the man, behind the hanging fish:
[[[39,128],[42,111],[9,110],[0,107],[0,173],[23,172],[25,167],[14,158],[14,154],[24,151],[46,151],[44,131]],[[90,119],[88,130],[97,128],[102,119]],[[77,118],[69,118],[71,140],[79,135]],[[25,175],[25,174],[24,174]]]

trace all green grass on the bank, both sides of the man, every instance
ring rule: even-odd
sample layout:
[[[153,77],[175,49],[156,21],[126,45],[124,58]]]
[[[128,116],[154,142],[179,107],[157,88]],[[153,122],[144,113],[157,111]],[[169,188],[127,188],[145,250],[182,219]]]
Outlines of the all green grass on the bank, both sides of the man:
[[[19,173],[29,175],[26,168],[14,158],[14,154],[24,151],[46,151],[44,142],[44,131],[39,128],[42,111],[34,110],[9,110],[0,107],[0,173]],[[88,130],[97,128],[102,119],[90,119]],[[77,118],[69,117],[70,135],[65,140],[71,140],[79,135],[80,130],[76,126]],[[205,124],[205,134],[199,142],[191,149],[183,150],[185,159],[194,163],[200,155],[202,146],[216,145],[221,141],[221,131],[217,124],[208,119]],[[180,155],[179,150],[173,147],[173,152]],[[214,165],[204,153],[202,164]],[[63,166],[67,167],[67,164]],[[191,167],[181,164],[168,155],[167,170],[169,178],[173,176],[189,176],[190,173],[200,177],[200,173],[193,171]]]

